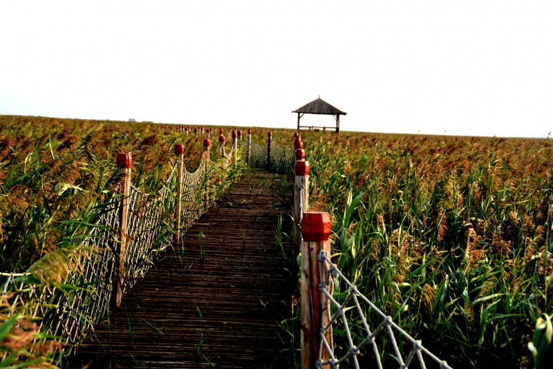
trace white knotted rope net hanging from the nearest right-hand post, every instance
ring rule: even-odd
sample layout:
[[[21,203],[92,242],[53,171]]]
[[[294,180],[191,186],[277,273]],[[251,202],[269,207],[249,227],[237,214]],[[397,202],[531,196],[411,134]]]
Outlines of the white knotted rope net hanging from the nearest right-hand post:
[[[386,355],[387,359],[394,357],[400,368],[407,368],[413,361],[418,361],[421,368],[426,368],[424,357],[430,358],[440,368],[451,368],[446,361],[440,360],[424,348],[421,341],[413,339],[392,321],[391,316],[386,316],[359,292],[330,261],[326,252],[319,252],[318,261],[322,314],[317,368],[328,364],[332,368],[339,368],[341,364],[359,368],[358,356],[366,345],[371,346],[373,352],[365,352],[362,367],[371,362],[372,365],[376,363],[378,368],[383,368],[382,345],[388,349],[391,345],[391,352]],[[335,287],[340,285],[346,287],[344,291],[335,290]],[[338,299],[341,299],[341,302]],[[367,316],[373,322],[379,321],[375,328],[371,329]],[[352,330],[352,325],[355,325],[355,330]],[[338,332],[342,341],[346,339],[346,346],[341,342],[335,342],[334,334]],[[386,367],[388,366],[389,363],[386,362]]]

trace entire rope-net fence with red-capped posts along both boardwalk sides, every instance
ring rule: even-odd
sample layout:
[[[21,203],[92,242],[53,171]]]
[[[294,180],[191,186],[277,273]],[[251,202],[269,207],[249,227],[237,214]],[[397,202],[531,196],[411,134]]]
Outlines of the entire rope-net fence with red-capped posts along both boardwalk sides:
[[[118,157],[122,182],[128,186],[108,196],[82,243],[46,256],[61,261],[55,263],[61,270],[50,273],[37,263],[26,273],[0,273],[3,296],[11,306],[22,307],[24,315],[38,317],[47,337],[78,342],[229,186],[225,178],[238,160],[238,137],[241,133],[233,131],[232,148],[226,153],[221,130],[214,152],[218,160],[213,161],[209,138],[205,139],[203,160],[194,173],[182,169],[183,149],[176,145],[177,162],[156,193],[142,193],[130,185],[130,154],[120,154],[128,155]],[[292,260],[301,254],[302,368],[359,368],[368,361],[383,368],[392,365],[390,360],[400,368],[417,361],[425,368],[425,359],[450,368],[379,310],[332,263],[330,216],[308,211],[309,163],[299,135],[294,136],[292,147],[282,148],[272,143],[270,133],[267,144],[257,144],[250,131],[243,155],[251,167],[295,174]],[[65,277],[56,280],[53,275]]]

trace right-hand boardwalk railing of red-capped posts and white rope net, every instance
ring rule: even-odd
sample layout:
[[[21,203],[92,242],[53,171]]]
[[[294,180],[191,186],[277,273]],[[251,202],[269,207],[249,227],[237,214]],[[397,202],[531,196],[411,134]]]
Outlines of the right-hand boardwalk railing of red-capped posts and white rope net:
[[[362,367],[397,363],[407,368],[418,361],[426,368],[426,357],[440,368],[450,368],[379,310],[330,261],[330,216],[308,211],[309,162],[299,135],[294,135],[294,149],[293,249],[294,255],[301,254],[301,367],[359,368],[362,355]],[[256,155],[263,158],[263,152]],[[344,290],[339,290],[341,286]],[[365,346],[372,352],[363,350]]]

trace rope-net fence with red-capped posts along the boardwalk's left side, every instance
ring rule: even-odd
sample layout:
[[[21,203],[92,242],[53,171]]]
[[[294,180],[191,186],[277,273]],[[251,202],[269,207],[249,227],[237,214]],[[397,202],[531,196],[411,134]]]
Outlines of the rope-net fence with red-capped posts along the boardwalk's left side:
[[[204,140],[206,144],[198,169],[193,173],[182,171],[182,186],[178,186],[175,164],[156,193],[143,193],[130,185],[130,172],[122,172],[120,167],[120,176],[129,178],[128,191],[106,196],[108,200],[100,205],[95,223],[86,225],[82,242],[73,249],[46,254],[26,273],[0,273],[3,299],[12,307],[12,314],[39,319],[42,335],[33,347],[40,347],[45,337],[56,337],[64,344],[80,341],[110,308],[118,305],[114,302],[118,284],[121,294],[131,289],[171,247],[177,206],[181,222],[176,227],[184,232],[214,202],[214,195],[221,191],[216,185],[223,189],[229,186],[225,179],[230,165],[236,162],[236,140],[223,160],[213,162],[209,161],[209,140]],[[122,162],[130,168],[130,154],[121,155],[128,155]],[[119,159],[118,155],[118,164]],[[217,183],[212,178],[216,176],[220,179]],[[124,229],[122,209],[126,211]],[[7,354],[1,352],[1,360]]]

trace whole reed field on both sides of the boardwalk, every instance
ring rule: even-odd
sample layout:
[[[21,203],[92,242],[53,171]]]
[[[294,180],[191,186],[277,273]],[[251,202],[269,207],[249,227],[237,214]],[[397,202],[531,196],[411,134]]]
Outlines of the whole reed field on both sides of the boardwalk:
[[[268,129],[253,131],[266,142]],[[272,131],[292,146],[293,130]],[[310,211],[330,213],[332,260],[368,299],[453,367],[538,363],[553,330],[552,140],[300,134]],[[82,239],[117,186],[117,153],[132,153],[131,182],[153,192],[173,145],[185,145],[191,171],[203,138],[159,124],[0,115],[0,272],[25,272]],[[0,342],[7,308],[0,301]]]

